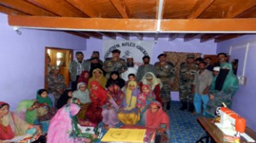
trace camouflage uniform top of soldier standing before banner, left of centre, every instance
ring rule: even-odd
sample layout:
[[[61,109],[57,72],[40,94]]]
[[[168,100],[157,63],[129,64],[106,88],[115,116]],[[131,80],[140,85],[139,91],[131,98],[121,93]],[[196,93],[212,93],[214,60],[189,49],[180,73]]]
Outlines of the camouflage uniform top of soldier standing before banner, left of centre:
[[[112,58],[108,58],[103,63],[103,69],[107,72],[106,78],[109,78],[110,73],[113,71],[119,72],[120,75],[122,71],[127,70],[127,65],[123,59],[115,61]]]

